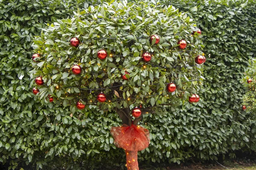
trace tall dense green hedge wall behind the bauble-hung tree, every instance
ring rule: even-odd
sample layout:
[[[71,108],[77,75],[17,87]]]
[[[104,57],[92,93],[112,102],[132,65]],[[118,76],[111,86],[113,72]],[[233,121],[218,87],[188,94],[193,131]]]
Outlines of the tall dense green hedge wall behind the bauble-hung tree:
[[[7,166],[23,167],[24,162],[44,169],[124,166],[125,154],[116,149],[109,133],[111,126],[121,122],[116,115],[87,113],[82,126],[70,116],[69,127],[51,130],[48,114],[59,112],[66,117],[70,113],[46,108],[32,94],[34,81],[28,72],[33,37],[45,23],[84,8],[84,2],[0,0],[0,161]],[[205,88],[198,105],[185,102],[169,114],[151,116],[145,125],[151,144],[139,153],[139,162],[180,163],[190,158],[217,159],[222,153],[233,156],[235,150],[255,151],[256,118],[241,110],[241,78],[256,51],[256,2],[165,3],[187,12],[202,30],[207,56]]]

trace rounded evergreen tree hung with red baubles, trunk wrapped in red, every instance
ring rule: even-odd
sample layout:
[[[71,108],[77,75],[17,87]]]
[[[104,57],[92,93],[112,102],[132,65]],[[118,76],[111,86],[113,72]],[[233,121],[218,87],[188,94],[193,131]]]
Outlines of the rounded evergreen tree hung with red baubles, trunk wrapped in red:
[[[180,102],[198,102],[205,62],[196,24],[172,6],[125,0],[85,6],[58,20],[34,40],[33,93],[42,104],[72,112],[115,112],[117,147],[127,168],[138,170],[137,151],[149,144],[143,116],[166,113]],[[66,123],[48,115],[52,124]]]

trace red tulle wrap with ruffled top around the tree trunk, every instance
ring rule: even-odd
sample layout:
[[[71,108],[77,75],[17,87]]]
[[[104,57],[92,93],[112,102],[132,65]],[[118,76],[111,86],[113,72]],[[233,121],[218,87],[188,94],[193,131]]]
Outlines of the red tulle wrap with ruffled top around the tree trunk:
[[[139,170],[137,152],[148,147],[150,142],[147,129],[136,125],[122,125],[110,130],[114,144],[125,150],[128,170]]]

